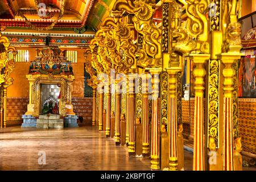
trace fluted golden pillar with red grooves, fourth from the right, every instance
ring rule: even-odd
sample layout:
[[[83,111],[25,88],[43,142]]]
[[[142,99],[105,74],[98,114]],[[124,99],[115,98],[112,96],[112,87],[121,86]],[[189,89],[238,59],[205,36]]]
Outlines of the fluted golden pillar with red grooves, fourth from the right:
[[[150,68],[152,74],[151,169],[159,170],[159,73],[162,68]]]

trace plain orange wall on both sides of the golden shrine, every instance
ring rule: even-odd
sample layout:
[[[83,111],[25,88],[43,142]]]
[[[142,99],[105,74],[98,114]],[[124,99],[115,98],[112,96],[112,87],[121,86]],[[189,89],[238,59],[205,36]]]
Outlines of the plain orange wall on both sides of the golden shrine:
[[[18,50],[26,49],[29,51],[29,59],[35,59],[36,48],[19,48]],[[77,51],[77,63],[73,63],[73,73],[75,80],[73,81],[72,97],[84,97],[84,50],[83,49],[68,49]],[[28,97],[29,85],[26,75],[30,63],[17,63],[15,64],[14,72],[11,77],[14,78],[14,84],[7,88],[7,97]]]

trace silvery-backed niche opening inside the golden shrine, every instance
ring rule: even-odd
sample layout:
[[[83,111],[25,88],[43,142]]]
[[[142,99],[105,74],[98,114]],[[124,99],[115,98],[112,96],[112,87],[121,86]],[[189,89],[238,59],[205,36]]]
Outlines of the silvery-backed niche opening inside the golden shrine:
[[[40,114],[59,114],[60,86],[40,84]]]

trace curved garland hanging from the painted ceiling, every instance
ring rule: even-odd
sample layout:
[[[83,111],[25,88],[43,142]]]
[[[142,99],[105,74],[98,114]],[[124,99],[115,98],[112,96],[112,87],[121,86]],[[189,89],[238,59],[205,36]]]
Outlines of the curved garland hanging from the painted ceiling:
[[[39,3],[38,3],[37,0],[34,0],[34,2],[35,2],[35,5],[36,5],[36,10],[37,10],[37,12],[39,12],[39,7],[37,6],[37,5],[39,5]],[[22,16],[22,18],[25,19],[25,22],[27,24],[29,24],[30,27],[32,27],[33,30],[37,30],[37,31],[51,30],[55,26],[55,24],[63,17],[63,15],[64,15],[64,6],[65,6],[65,0],[63,0],[61,2],[61,13],[60,13],[60,15],[58,16],[58,18],[54,22],[52,22],[51,25],[49,25],[47,27],[36,27],[36,26],[34,26],[34,24],[32,24],[30,21],[28,21],[26,16],[24,16],[24,14],[21,13],[20,11],[18,12],[18,15]]]

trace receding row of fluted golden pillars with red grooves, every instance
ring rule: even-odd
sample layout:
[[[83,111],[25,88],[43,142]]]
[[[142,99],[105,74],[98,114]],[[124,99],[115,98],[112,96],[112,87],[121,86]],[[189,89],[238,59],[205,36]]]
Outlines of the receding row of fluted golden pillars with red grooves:
[[[193,170],[205,170],[205,145],[207,141],[204,137],[204,89],[205,89],[205,63],[209,61],[209,55],[195,54],[190,55],[189,58],[193,61],[195,68],[193,74],[195,76],[195,119],[194,119],[194,142],[193,142]],[[224,107],[223,117],[224,123],[223,134],[223,160],[222,169],[234,170],[234,156],[233,156],[233,106],[232,106],[232,90],[234,70],[232,64],[239,59],[238,55],[220,55],[221,63],[224,65],[222,76],[224,77],[223,89],[224,93]],[[160,160],[168,161],[169,170],[182,169],[184,167],[183,154],[183,136],[182,130],[180,132],[177,123],[177,73],[180,70],[167,68],[168,73],[168,143],[165,145],[164,136],[160,131],[160,103],[159,103],[159,75],[162,73],[162,68],[150,68],[148,71],[152,75],[152,110],[151,110],[151,125],[149,121],[149,104],[148,93],[143,87],[142,90],[142,140],[137,140],[137,118],[135,117],[136,110],[136,94],[135,84],[127,84],[127,98],[126,98],[126,115],[121,113],[121,93],[118,92],[118,82],[115,82],[115,93],[110,93],[110,84],[105,86],[106,94],[97,93],[93,89],[93,126],[98,123],[98,130],[106,131],[106,137],[114,137],[115,144],[124,143],[128,146],[129,156],[138,155],[136,147],[141,146],[144,157],[150,156],[151,169],[160,169]],[[115,107],[112,110],[112,94],[115,94]],[[97,102],[98,95],[98,105]],[[106,110],[104,111],[104,96],[106,97]],[[222,107],[221,107],[222,108]],[[105,116],[104,116],[105,115]],[[126,121],[126,123],[125,123]],[[125,123],[125,124],[123,124]],[[182,124],[181,124],[182,125]],[[113,130],[114,127],[114,130]],[[150,129],[151,127],[151,129]],[[124,129],[125,128],[125,129]],[[124,140],[125,142],[122,142]],[[166,150],[166,147],[168,149]],[[165,149],[164,149],[165,148]],[[163,150],[167,151],[168,158],[164,158]],[[161,167],[161,169],[163,169]]]

